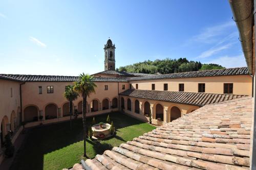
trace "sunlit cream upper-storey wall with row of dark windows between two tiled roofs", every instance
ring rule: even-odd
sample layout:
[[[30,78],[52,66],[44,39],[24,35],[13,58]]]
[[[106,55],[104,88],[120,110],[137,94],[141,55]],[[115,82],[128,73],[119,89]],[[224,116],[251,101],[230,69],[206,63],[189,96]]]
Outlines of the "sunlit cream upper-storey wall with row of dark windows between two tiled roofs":
[[[162,80],[130,81],[133,88],[151,90],[155,84],[155,90],[163,90],[163,84],[168,84],[168,91],[179,91],[179,83],[184,83],[185,92],[198,92],[198,83],[205,83],[205,93],[223,93],[223,83],[233,83],[233,94],[251,95],[252,78],[249,75],[242,76],[216,76],[200,78],[179,78]]]

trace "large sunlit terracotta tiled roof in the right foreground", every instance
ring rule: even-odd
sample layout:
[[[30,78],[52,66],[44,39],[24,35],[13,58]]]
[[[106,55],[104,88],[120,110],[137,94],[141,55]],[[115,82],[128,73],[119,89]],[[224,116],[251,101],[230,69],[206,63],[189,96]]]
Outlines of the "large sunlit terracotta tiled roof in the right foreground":
[[[87,159],[86,165],[92,170],[249,169],[251,123],[252,98],[206,105]]]

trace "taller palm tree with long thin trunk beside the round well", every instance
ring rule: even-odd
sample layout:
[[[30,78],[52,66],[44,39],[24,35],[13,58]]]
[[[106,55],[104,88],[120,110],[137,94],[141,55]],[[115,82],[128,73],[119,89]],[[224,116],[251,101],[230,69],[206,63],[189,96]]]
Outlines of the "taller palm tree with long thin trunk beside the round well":
[[[91,93],[95,93],[96,84],[93,83],[93,77],[84,73],[79,75],[79,80],[75,82],[74,90],[82,96],[82,124],[83,124],[83,156],[86,155],[86,108],[87,108],[87,97]]]

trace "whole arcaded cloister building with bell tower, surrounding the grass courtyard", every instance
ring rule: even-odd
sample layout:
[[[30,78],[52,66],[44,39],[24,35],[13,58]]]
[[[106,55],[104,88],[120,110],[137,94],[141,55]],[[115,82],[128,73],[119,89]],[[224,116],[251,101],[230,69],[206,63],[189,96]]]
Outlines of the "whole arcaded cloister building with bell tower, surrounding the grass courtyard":
[[[87,116],[120,111],[144,122],[164,125],[199,109],[252,96],[253,79],[247,67],[148,75],[115,71],[115,45],[104,46],[104,71],[94,74],[96,93],[87,100]],[[0,74],[1,145],[9,130],[13,141],[25,127],[69,120],[65,87],[77,76]],[[82,98],[73,102],[73,113],[82,112]],[[40,119],[41,118],[41,119]],[[0,149],[0,156],[3,153]],[[0,159],[1,162],[1,159]]]

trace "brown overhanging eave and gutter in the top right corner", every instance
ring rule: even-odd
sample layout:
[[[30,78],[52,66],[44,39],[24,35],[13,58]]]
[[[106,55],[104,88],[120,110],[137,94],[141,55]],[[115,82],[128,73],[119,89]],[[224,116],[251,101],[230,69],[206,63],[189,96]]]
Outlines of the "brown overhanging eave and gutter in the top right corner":
[[[252,27],[253,27],[253,2],[252,0],[229,0],[233,13],[233,20],[236,22],[239,31],[239,40],[242,45],[244,57],[253,75],[253,54],[252,54]]]

